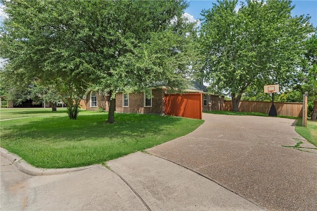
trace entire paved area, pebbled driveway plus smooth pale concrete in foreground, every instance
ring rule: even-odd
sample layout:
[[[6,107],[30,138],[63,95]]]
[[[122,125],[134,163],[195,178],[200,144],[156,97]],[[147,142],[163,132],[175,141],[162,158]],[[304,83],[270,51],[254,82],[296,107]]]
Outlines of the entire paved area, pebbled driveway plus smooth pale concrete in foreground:
[[[317,210],[317,150],[294,120],[203,117],[107,167],[36,169],[0,148],[0,210]]]

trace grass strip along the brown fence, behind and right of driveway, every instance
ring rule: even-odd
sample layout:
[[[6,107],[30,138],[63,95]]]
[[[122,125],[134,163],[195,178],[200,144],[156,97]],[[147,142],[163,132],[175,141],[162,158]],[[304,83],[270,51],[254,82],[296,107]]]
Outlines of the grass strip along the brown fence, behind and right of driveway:
[[[238,116],[262,116],[268,117],[267,114],[259,112],[233,112],[233,111],[207,111],[209,114],[224,114],[224,115],[238,115]],[[307,121],[307,127],[302,126],[303,120],[298,117],[277,116],[280,118],[297,119],[295,131],[304,137],[306,140],[317,146],[317,122]]]

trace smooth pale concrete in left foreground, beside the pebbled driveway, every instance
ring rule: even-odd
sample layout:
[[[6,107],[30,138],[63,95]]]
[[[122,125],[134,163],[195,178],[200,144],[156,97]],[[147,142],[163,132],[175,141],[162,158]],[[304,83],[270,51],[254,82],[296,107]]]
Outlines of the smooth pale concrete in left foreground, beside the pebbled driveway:
[[[262,210],[189,169],[141,152],[107,162],[111,170],[94,165],[56,169],[56,175],[50,169],[45,176],[43,169],[12,164],[10,156],[1,149],[0,210]]]

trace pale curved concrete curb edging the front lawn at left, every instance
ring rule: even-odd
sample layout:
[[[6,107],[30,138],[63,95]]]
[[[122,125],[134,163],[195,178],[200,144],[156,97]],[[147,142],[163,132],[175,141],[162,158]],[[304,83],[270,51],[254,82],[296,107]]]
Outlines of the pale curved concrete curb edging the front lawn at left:
[[[23,173],[32,175],[32,176],[49,176],[49,175],[57,175],[57,174],[65,174],[72,173],[75,171],[80,171],[84,169],[91,169],[93,166],[88,167],[79,167],[79,168],[70,168],[70,169],[39,169],[31,166],[26,161],[24,161],[21,157],[8,152],[6,149],[0,147],[0,155],[6,159],[8,159],[11,165],[17,167],[17,169]]]

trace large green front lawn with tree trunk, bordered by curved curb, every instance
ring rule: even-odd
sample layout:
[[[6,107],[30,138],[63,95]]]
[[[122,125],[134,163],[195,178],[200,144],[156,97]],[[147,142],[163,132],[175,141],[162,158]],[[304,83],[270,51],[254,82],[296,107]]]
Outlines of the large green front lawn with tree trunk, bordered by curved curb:
[[[64,111],[47,111],[35,115],[16,109],[3,115],[33,117],[1,121],[1,147],[38,168],[81,167],[156,146],[186,135],[204,122],[171,116],[115,114],[116,123],[105,124],[107,113],[81,111],[77,120],[70,120]],[[44,116],[38,117],[41,115]]]

